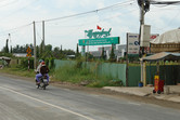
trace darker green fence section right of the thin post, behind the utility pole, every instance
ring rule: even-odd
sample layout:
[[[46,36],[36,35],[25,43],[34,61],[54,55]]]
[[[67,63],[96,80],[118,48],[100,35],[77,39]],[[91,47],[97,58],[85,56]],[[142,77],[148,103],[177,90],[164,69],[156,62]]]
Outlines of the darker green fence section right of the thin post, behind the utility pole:
[[[156,75],[156,66],[146,66],[146,83],[154,84],[154,76]],[[165,65],[159,66],[159,79],[165,80],[167,85],[180,83],[180,66]],[[129,66],[128,82],[129,86],[138,86],[141,80],[141,67]]]

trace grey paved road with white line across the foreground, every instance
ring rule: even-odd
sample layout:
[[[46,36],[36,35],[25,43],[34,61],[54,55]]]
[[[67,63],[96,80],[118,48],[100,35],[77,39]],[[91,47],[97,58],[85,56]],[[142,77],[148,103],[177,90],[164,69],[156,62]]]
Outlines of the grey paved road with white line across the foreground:
[[[180,120],[180,110],[0,76],[0,120]]]

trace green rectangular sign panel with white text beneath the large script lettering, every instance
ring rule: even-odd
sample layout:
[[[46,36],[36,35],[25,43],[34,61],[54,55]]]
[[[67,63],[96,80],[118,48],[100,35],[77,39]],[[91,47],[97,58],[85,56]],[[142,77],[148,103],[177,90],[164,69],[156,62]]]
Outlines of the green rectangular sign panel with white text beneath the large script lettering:
[[[119,37],[79,39],[79,45],[103,45],[103,44],[118,44],[118,43],[119,43]]]

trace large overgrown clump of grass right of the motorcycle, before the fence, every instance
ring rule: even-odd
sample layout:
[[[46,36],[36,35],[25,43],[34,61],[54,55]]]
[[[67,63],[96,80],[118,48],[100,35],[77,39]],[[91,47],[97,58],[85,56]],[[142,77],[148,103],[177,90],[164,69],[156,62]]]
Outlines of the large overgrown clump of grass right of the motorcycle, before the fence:
[[[55,70],[53,78],[57,81],[72,82],[90,88],[123,85],[120,80],[114,81],[111,77],[97,76],[89,69],[70,66],[60,67],[57,70]]]

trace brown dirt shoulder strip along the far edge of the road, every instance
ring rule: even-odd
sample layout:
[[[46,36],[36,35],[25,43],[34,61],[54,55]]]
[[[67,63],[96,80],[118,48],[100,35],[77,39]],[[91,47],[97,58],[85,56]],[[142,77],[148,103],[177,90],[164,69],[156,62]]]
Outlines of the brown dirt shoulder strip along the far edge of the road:
[[[2,74],[2,72],[0,72],[0,76],[5,76],[5,77],[11,77],[11,78],[15,78],[15,79],[27,80],[27,81],[34,82],[34,78],[20,77],[20,76],[8,75],[8,74]],[[72,84],[72,83],[67,83],[67,82],[51,81],[50,85],[75,90],[75,91],[87,92],[90,94],[105,95],[105,96],[114,97],[114,98],[120,98],[120,99],[123,98],[123,99],[128,99],[128,101],[145,103],[145,104],[154,104],[154,105],[168,107],[168,108],[180,109],[180,103],[157,99],[152,96],[130,95],[130,94],[119,93],[119,92],[115,92],[115,91],[111,91],[111,90],[104,90],[101,88],[87,88],[87,86],[81,86],[79,84]]]

